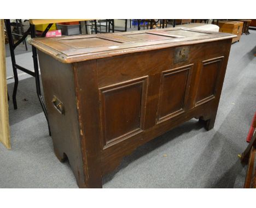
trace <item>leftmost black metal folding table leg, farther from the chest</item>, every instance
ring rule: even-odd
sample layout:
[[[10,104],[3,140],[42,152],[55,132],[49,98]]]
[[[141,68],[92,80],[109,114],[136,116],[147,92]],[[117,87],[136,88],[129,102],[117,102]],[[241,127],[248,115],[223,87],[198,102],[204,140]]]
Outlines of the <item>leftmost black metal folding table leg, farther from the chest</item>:
[[[13,75],[14,75],[13,106],[14,106],[14,109],[17,109],[16,94],[18,89],[19,78],[18,78],[17,68],[15,66],[16,60],[15,60],[15,54],[14,54],[14,41],[13,41],[13,35],[11,35],[10,20],[5,20],[5,27],[7,30],[8,40],[9,40],[11,64],[13,65]]]

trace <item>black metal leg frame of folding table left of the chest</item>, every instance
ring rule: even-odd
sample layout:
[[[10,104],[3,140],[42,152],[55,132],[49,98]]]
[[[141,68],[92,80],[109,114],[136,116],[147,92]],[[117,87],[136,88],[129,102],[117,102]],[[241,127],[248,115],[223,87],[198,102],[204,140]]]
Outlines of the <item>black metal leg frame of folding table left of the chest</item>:
[[[41,93],[41,88],[40,88],[40,77],[39,77],[39,68],[38,68],[38,60],[37,60],[37,49],[36,47],[32,46],[32,57],[33,57],[33,64],[34,64],[34,72],[30,71],[28,69],[25,69],[24,67],[16,64],[16,60],[15,60],[15,53],[14,50],[15,48],[26,39],[27,35],[30,34],[31,38],[35,38],[36,37],[36,29],[34,25],[30,24],[30,28],[28,28],[28,30],[22,35],[22,38],[16,42],[14,44],[13,41],[13,36],[11,34],[11,26],[10,26],[10,20],[4,20],[5,22],[5,28],[7,30],[7,34],[8,34],[8,40],[9,40],[9,46],[10,46],[10,55],[11,55],[11,63],[13,65],[13,74],[14,74],[14,90],[13,90],[13,105],[14,105],[14,109],[17,109],[17,101],[16,101],[16,94],[17,94],[17,89],[18,89],[18,84],[19,84],[19,77],[18,77],[18,72],[17,69],[27,73],[28,75],[33,76],[36,79],[36,89],[37,89],[37,97],[38,100],[40,102],[40,105],[42,106],[45,118],[47,120],[48,123],[48,129],[49,129],[49,134],[51,135],[51,131],[50,131],[50,126],[49,126],[49,120],[48,120],[48,114],[46,112],[46,108],[44,105],[44,101],[43,101],[43,96]],[[53,24],[50,23],[48,25],[48,27],[46,27],[46,29],[44,30],[44,32],[42,33],[41,37],[44,37],[46,35],[46,33],[48,32],[48,30],[50,29],[50,27]]]

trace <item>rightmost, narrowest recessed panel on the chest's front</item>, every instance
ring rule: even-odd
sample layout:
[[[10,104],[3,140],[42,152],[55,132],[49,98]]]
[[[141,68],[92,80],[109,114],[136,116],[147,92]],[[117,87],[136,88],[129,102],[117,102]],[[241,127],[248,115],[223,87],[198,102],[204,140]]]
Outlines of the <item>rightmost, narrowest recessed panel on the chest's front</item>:
[[[199,106],[215,98],[223,58],[219,57],[202,62],[195,106]]]

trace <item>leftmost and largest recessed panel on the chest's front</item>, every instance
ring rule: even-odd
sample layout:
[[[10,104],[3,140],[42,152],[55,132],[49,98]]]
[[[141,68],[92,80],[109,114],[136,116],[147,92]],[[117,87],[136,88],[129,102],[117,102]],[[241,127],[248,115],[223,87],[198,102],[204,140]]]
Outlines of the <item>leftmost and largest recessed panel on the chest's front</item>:
[[[104,146],[142,131],[147,79],[146,76],[100,89],[101,132]]]

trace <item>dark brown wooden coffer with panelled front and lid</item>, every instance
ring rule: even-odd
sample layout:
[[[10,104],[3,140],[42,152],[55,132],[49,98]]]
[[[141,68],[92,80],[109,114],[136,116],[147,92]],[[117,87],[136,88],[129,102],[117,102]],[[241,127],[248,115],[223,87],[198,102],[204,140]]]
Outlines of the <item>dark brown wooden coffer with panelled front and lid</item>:
[[[168,28],[33,39],[55,154],[78,186],[102,187],[124,156],[189,119],[212,129],[235,36]]]

